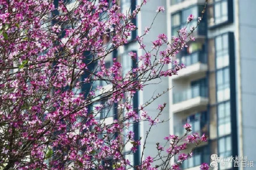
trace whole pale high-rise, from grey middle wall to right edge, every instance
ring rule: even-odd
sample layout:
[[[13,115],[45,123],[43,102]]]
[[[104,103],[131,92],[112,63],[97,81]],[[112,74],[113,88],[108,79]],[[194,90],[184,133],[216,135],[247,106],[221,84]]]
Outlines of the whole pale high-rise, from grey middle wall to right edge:
[[[141,4],[141,1],[143,0],[119,0],[121,11],[131,12],[136,5]],[[169,40],[173,35],[177,35],[177,30],[186,26],[190,14],[194,15],[195,19],[188,28],[195,26],[204,4],[205,0],[151,0],[134,20],[138,30],[131,32],[131,39],[144,34],[144,29],[151,25],[158,6],[165,6],[166,11],[159,13],[151,31],[144,37],[144,44],[149,49],[158,34],[168,32]],[[209,136],[209,140],[193,151],[193,157],[183,162],[182,169],[199,169],[202,162],[212,162],[212,154],[221,158],[247,157],[246,165],[240,162],[234,167],[234,162],[225,165],[219,163],[215,169],[256,167],[250,162],[256,162],[254,6],[256,6],[254,0],[208,0],[204,18],[193,33],[195,41],[189,42],[188,47],[176,56],[187,68],[181,70],[177,76],[162,79],[161,84],[147,86],[143,91],[134,94],[133,106],[137,108],[157,93],[173,87],[169,94],[162,96],[145,109],[154,117],[158,113],[156,110],[158,104],[168,103],[160,119],[170,118],[170,122],[159,124],[152,129],[147,139],[144,156],[157,154],[155,144],[163,143],[165,136],[172,133],[183,135],[183,125],[189,122],[193,126],[193,132],[198,132],[200,135],[205,133]],[[112,58],[116,57],[127,73],[133,67],[133,62],[128,57],[129,52],[141,56],[144,50],[140,49],[137,42],[129,42],[106,57],[106,66],[111,66]],[[101,84],[101,86],[108,85]],[[110,122],[113,120],[113,115],[116,115],[116,106],[111,111],[108,113]],[[105,117],[105,115],[99,116]],[[147,122],[140,122],[130,129],[136,134],[136,139],[142,137],[142,145],[138,147],[138,152],[127,155],[131,164],[140,164],[143,142],[149,127]],[[127,144],[126,151],[130,148],[131,146]]]

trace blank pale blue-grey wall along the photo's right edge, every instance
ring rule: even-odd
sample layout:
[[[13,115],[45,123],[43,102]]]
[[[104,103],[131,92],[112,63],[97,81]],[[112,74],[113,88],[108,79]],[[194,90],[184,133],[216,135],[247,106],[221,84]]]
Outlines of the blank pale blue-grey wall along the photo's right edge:
[[[256,1],[239,2],[239,44],[241,75],[241,123],[243,127],[243,155],[256,162]],[[240,75],[237,75],[239,77]],[[251,168],[244,168],[251,169]]]

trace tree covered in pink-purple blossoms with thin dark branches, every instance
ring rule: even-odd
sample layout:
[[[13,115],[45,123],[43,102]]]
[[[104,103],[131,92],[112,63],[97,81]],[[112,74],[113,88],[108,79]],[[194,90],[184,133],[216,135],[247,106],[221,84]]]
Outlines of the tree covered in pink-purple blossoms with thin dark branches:
[[[186,124],[186,143],[178,144],[184,136],[166,134],[166,146],[156,144],[158,155],[142,154],[137,165],[126,158],[141,144],[134,132],[127,132],[129,126],[148,121],[152,128],[166,106],[160,104],[150,117],[147,106],[161,94],[134,108],[134,93],[184,67],[175,55],[194,39],[196,28],[182,28],[171,42],[161,34],[147,51],[143,36],[150,27],[127,41],[145,3],[126,15],[114,0],[0,1],[0,169],[179,169],[192,156],[180,154],[186,144],[207,140],[205,135],[188,135],[191,126]],[[159,7],[157,13],[163,10]],[[115,58],[107,67],[106,56],[129,42],[145,51],[143,56],[129,53],[133,68],[123,73]],[[102,81],[108,88],[98,85]],[[118,112],[107,122],[112,109]],[[124,154],[127,143],[133,147]],[[178,161],[170,164],[176,154]],[[154,164],[157,160],[161,163]]]

